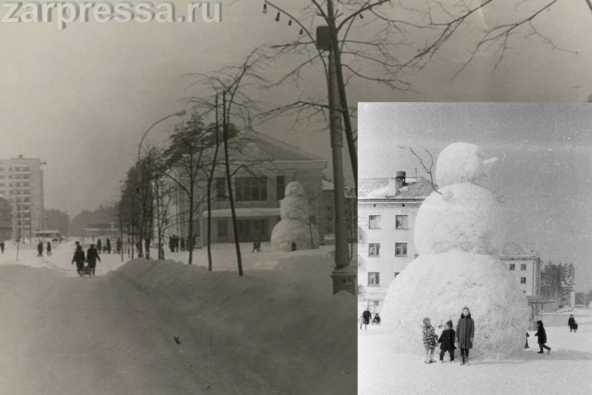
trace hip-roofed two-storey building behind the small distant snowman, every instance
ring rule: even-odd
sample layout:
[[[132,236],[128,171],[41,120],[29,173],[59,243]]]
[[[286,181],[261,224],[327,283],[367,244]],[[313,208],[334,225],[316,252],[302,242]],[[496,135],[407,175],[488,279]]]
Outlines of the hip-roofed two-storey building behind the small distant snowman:
[[[239,240],[268,241],[271,231],[280,220],[279,201],[284,198],[286,185],[291,181],[303,184],[310,208],[310,221],[316,224],[321,242],[325,233],[323,211],[323,169],[326,160],[298,147],[276,140],[253,130],[233,137],[230,169],[236,205]],[[179,172],[181,174],[182,172]],[[212,182],[211,242],[234,240],[231,221],[226,171],[218,166]],[[201,202],[194,217],[194,236],[197,246],[207,242],[207,182],[197,186],[195,201]],[[173,210],[179,222],[170,226],[168,234],[188,235],[188,199],[178,192],[178,205]]]

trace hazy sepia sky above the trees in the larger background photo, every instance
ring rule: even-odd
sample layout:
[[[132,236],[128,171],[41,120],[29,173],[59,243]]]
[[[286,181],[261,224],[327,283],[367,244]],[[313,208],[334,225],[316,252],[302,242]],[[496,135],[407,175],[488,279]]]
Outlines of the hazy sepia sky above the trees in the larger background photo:
[[[308,1],[277,3],[299,14]],[[144,130],[188,107],[183,98],[204,93],[188,88],[192,81],[186,73],[236,65],[255,46],[297,37],[297,28],[288,27],[285,19],[275,23],[274,13],[263,15],[261,9],[260,1],[224,1],[220,24],[73,23],[63,31],[53,23],[0,24],[0,157],[22,154],[47,162],[47,208],[66,210],[72,217],[83,208],[112,203]],[[491,15],[477,15],[472,25],[482,28],[492,15],[506,11],[492,8]],[[540,37],[523,38],[523,32],[513,38],[497,70],[485,54],[451,80],[466,56],[468,30],[442,47],[421,72],[408,76],[414,91],[352,80],[349,102],[584,101],[592,92],[592,14],[584,2],[559,1],[539,18],[538,27],[556,46],[578,54],[554,50]],[[287,65],[276,63],[272,70],[279,75],[282,67]],[[325,90],[317,68],[298,86],[259,92],[259,97],[281,104]],[[170,126],[153,129],[151,141],[165,140]],[[294,127],[282,119],[258,130],[325,156],[330,175],[329,138],[320,124]],[[351,179],[349,171],[349,184]]]

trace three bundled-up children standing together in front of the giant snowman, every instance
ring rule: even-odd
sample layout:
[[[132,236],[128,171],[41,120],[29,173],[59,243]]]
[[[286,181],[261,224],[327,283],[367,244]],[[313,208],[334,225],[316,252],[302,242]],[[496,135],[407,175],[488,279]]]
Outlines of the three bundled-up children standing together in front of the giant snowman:
[[[440,362],[444,362],[446,351],[450,355],[450,361],[455,362],[454,351],[458,345],[458,348],[461,349],[461,365],[469,364],[469,349],[473,348],[473,339],[475,338],[475,322],[471,318],[471,311],[468,307],[462,308],[461,317],[456,322],[456,330],[452,329],[452,320],[448,320],[439,338],[429,317],[424,317],[422,322],[423,347],[426,350],[424,362],[426,364],[436,362],[433,357],[437,343],[440,343]]]

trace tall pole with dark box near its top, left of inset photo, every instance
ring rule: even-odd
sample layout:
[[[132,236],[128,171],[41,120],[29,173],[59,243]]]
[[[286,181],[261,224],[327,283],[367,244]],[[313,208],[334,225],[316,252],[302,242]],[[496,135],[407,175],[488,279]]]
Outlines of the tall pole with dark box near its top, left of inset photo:
[[[333,278],[333,293],[348,291],[356,294],[356,271],[350,266],[348,239],[345,226],[345,196],[343,181],[343,128],[342,103],[339,95],[339,81],[337,79],[336,62],[336,29],[334,21],[333,1],[327,0],[327,18],[329,26],[317,27],[317,47],[329,50],[329,78],[327,88],[329,93],[329,127],[331,131],[331,150],[333,157],[333,184],[335,202],[335,269]]]

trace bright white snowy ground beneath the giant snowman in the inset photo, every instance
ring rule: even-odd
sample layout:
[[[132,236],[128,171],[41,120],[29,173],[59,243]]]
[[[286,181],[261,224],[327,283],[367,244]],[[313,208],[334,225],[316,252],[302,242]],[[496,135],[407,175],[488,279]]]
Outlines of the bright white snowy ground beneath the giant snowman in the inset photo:
[[[543,314],[551,354],[539,351],[536,332],[529,331],[531,348],[503,361],[471,360],[424,364],[422,355],[392,354],[382,326],[358,330],[358,395],[372,394],[590,394],[592,393],[592,310],[574,310],[578,332],[570,333],[571,313]],[[382,320],[388,319],[382,317]],[[525,336],[526,339],[526,336]],[[439,345],[438,345],[439,346]],[[478,348],[475,343],[475,348]],[[439,359],[436,348],[435,359]]]

